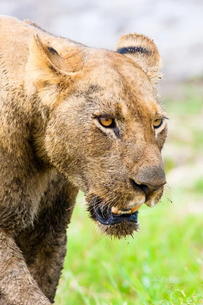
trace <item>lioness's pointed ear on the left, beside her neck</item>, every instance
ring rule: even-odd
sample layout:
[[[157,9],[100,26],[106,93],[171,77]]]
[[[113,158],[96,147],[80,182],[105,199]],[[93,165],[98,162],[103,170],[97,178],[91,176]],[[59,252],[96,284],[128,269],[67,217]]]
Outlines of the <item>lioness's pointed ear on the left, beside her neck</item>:
[[[59,103],[65,88],[73,83],[77,74],[67,69],[67,58],[61,57],[52,46],[42,42],[38,35],[32,38],[26,70],[46,105]]]

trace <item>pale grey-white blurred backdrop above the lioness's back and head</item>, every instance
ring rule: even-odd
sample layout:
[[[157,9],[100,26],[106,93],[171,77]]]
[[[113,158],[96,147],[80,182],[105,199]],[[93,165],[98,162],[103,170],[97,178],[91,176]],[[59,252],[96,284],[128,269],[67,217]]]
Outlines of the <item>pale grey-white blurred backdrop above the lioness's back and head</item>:
[[[202,0],[1,0],[0,12],[110,50],[122,34],[144,34],[158,46],[166,80],[202,75]]]

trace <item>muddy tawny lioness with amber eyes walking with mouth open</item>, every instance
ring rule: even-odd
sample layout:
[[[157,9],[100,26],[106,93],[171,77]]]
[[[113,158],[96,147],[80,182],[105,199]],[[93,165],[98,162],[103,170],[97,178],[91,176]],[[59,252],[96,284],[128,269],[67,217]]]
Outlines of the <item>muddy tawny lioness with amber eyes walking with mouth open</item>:
[[[143,35],[113,52],[30,21],[0,25],[0,303],[47,305],[79,189],[101,232],[118,238],[162,196],[161,59]]]

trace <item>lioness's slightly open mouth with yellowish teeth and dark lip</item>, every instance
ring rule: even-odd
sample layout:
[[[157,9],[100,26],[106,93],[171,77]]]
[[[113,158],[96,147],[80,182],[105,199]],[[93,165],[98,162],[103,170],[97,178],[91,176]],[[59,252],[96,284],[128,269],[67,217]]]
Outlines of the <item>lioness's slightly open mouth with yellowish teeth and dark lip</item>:
[[[138,223],[137,209],[118,209],[116,207],[105,207],[99,204],[94,204],[91,209],[91,217],[99,221],[103,225],[115,225],[123,222]]]

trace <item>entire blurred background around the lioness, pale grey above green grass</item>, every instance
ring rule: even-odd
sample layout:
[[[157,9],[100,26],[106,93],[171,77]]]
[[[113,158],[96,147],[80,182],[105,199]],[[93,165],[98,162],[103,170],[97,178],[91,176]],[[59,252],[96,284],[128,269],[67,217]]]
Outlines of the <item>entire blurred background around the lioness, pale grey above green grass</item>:
[[[94,230],[80,193],[55,303],[203,304],[203,1],[1,0],[0,13],[111,50],[120,35],[137,32],[163,59],[165,195],[141,208],[134,239],[115,241]]]

